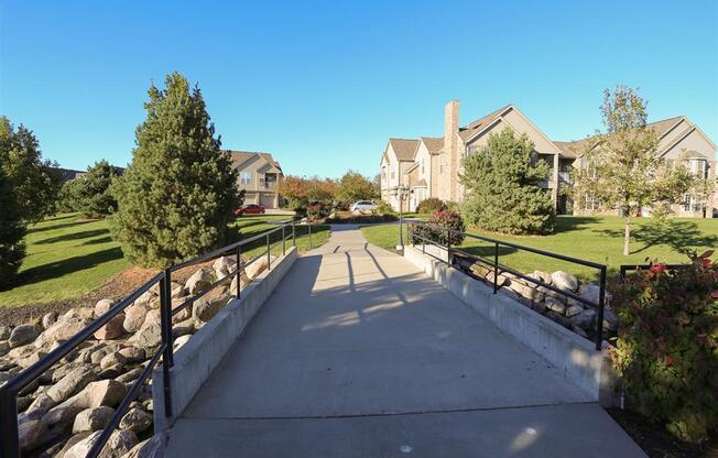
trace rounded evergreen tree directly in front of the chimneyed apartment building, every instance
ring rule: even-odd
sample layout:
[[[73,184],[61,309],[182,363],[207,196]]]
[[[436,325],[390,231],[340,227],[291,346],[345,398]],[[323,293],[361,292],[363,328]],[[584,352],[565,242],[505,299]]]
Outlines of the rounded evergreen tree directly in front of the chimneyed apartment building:
[[[463,205],[467,222],[504,233],[553,231],[553,203],[541,187],[548,166],[533,159],[534,144],[508,128],[489,135],[487,146],[465,157],[459,181],[467,188]]]

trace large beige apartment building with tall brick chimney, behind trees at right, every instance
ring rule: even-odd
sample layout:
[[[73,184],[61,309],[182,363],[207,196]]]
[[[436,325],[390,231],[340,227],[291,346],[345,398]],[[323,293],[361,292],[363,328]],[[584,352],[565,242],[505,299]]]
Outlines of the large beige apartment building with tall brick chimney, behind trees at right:
[[[670,164],[684,163],[704,179],[715,179],[718,148],[697,126],[681,116],[650,127],[660,138],[656,154]],[[573,203],[561,193],[562,187],[570,186],[572,167],[583,165],[580,154],[587,140],[553,141],[513,105],[460,127],[457,100],[449,101],[444,109],[444,137],[389,139],[380,163],[382,199],[399,210],[400,203],[391,189],[405,185],[411,194],[403,204],[404,211],[413,211],[426,197],[463,201],[466,189],[458,181],[461,159],[486,146],[491,133],[507,128],[518,135],[525,134],[534,144],[536,160],[548,164],[543,186],[551,193],[557,212],[590,215],[598,210],[598,203],[590,196]],[[678,216],[710,218],[718,210],[717,193],[707,199],[685,196],[684,200],[674,208]]]

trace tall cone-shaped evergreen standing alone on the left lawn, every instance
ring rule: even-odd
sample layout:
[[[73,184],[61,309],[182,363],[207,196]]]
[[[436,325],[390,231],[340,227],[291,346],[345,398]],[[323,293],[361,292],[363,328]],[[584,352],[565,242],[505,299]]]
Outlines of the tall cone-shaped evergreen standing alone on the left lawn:
[[[237,172],[197,86],[174,73],[150,87],[132,163],[116,181],[112,233],[130,261],[164,268],[225,241],[239,205]]]

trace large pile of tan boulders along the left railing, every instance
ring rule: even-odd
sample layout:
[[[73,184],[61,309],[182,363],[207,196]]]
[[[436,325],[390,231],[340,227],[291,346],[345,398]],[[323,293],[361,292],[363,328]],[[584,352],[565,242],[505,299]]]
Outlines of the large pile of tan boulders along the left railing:
[[[248,265],[240,277],[240,286],[251,282],[266,264],[266,258],[262,257]],[[173,307],[233,272],[235,268],[233,259],[219,258],[211,268],[197,270],[185,284],[173,282]],[[175,315],[175,350],[236,293],[235,277],[231,285],[216,287]],[[39,323],[14,328],[0,326],[0,385],[107,313],[112,305],[112,301],[102,299],[94,307],[73,308],[64,315],[50,313]],[[19,393],[18,428],[23,457],[85,457],[161,344],[159,285],[155,285]],[[156,448],[156,440],[152,439],[152,391],[148,384],[132,401],[100,456],[151,456]]]

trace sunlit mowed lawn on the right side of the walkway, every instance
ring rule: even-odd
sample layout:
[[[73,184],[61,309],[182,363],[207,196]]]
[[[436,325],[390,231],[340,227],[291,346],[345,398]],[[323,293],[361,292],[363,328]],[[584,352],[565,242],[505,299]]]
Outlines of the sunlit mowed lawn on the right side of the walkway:
[[[365,227],[361,231],[370,243],[390,249],[396,244],[396,226]],[[609,266],[609,274],[616,274],[621,264],[642,264],[646,259],[664,263],[684,263],[688,261],[686,253],[690,250],[701,253],[718,248],[718,219],[675,218],[667,226],[659,226],[650,218],[634,219],[631,254],[628,257],[622,254],[623,219],[619,217],[559,216],[556,232],[545,237],[511,237],[474,229],[469,231],[599,262]],[[460,248],[480,257],[493,258],[493,246],[487,242],[467,239]],[[714,254],[714,259],[716,258],[718,255]],[[581,280],[597,279],[594,269],[508,247],[499,250],[499,262],[522,272],[536,269],[550,272],[564,270]]]

